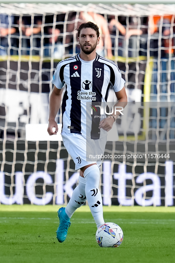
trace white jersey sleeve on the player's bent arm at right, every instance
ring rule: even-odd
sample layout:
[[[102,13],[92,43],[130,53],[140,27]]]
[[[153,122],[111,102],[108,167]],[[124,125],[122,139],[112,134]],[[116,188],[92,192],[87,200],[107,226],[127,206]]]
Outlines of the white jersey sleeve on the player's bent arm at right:
[[[111,86],[115,92],[121,91],[121,89],[124,87],[125,80],[121,77],[121,71],[118,69],[118,66],[113,67],[114,70],[114,76],[113,80],[111,81]]]

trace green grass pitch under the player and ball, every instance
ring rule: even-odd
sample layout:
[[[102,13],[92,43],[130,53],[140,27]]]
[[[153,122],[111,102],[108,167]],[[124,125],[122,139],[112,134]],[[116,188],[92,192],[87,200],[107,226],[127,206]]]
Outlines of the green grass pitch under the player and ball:
[[[1,263],[174,263],[175,207],[104,207],[121,226],[123,243],[100,248],[89,207],[71,218],[65,242],[56,239],[58,206],[0,205]]]

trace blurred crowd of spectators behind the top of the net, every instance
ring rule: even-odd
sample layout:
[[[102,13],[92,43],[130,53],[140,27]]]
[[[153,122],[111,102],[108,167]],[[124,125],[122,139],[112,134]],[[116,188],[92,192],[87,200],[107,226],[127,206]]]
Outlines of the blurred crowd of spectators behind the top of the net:
[[[109,59],[147,56],[147,50],[150,56],[174,56],[173,15],[103,16],[83,11],[43,16],[0,14],[0,56],[20,54],[61,59],[63,55],[78,53],[75,29],[88,21],[99,26],[97,52]]]

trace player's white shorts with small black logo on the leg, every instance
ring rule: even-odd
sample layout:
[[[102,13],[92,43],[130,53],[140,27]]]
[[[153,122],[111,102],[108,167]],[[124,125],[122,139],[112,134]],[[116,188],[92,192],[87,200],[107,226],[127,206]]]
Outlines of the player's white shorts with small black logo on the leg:
[[[76,170],[88,164],[97,163],[100,167],[102,163],[100,156],[104,154],[107,136],[99,140],[92,140],[78,133],[62,131],[61,135],[64,146],[75,163]]]

